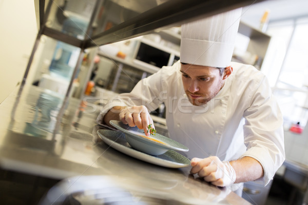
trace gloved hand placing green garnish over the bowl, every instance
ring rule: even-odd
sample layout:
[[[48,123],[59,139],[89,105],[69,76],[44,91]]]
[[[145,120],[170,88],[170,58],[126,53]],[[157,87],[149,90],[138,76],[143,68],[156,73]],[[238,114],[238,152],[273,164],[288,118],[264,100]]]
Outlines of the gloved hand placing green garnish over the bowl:
[[[147,133],[150,124],[152,124],[151,128],[155,129],[153,120],[145,106],[126,107],[121,110],[119,116],[125,125],[129,127],[137,126],[139,129],[143,129],[146,136],[150,135],[150,133]]]

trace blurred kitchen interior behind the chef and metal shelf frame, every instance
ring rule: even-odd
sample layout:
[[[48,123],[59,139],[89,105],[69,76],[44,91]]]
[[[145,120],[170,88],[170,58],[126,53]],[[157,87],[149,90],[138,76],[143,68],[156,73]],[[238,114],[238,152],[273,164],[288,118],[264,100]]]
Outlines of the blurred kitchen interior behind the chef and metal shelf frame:
[[[48,2],[48,1],[47,1]],[[100,5],[91,36],[119,25],[161,1],[106,0]],[[0,0],[0,103],[20,84],[39,26],[33,0]],[[53,1],[48,27],[85,39],[94,0]],[[273,183],[246,183],[243,197],[255,204],[301,204],[308,185],[308,1],[268,0],[246,6],[233,60],[254,65],[269,79],[284,116],[287,160]],[[103,19],[103,20],[102,20]],[[73,76],[80,48],[42,36],[27,83],[84,98],[100,109],[118,93],[180,56],[180,25],[122,42],[86,49]],[[146,52],[145,52],[146,50]],[[164,126],[164,105],[151,113]],[[248,196],[248,197],[247,197]]]

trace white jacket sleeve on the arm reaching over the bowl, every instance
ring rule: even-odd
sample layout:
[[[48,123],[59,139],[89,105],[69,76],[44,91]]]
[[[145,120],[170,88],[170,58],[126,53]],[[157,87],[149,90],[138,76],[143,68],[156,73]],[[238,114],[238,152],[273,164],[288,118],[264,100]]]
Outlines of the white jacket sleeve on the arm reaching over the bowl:
[[[115,106],[145,106],[148,111],[156,110],[162,103],[163,67],[160,71],[140,80],[130,93],[122,93],[111,98],[102,108],[97,117],[97,123],[102,124],[105,114]]]

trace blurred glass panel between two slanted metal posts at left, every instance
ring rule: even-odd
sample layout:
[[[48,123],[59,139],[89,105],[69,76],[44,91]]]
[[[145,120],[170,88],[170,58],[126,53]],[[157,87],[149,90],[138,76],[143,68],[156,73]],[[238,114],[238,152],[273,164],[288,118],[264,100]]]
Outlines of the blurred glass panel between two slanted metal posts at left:
[[[78,47],[42,36],[29,81],[32,85],[65,95],[80,51]]]

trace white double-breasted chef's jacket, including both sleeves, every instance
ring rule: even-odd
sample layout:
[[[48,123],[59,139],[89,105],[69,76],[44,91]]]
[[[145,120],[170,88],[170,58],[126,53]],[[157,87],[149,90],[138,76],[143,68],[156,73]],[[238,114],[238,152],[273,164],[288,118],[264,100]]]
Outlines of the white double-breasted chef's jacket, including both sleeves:
[[[98,121],[114,106],[144,105],[153,111],[164,103],[170,138],[189,148],[189,159],[253,157],[263,167],[265,186],[285,159],[283,117],[264,74],[250,65],[231,65],[223,88],[202,107],[189,103],[178,61],[110,100]]]

